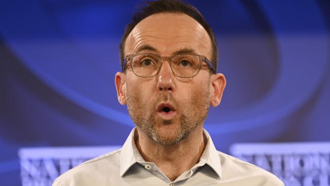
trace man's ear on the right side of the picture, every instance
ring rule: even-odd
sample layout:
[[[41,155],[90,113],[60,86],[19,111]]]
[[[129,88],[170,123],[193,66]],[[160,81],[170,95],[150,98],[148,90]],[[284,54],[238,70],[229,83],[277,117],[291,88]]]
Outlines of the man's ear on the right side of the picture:
[[[226,78],[221,73],[212,74],[210,83],[211,106],[216,107],[221,102],[223,90],[226,86]]]

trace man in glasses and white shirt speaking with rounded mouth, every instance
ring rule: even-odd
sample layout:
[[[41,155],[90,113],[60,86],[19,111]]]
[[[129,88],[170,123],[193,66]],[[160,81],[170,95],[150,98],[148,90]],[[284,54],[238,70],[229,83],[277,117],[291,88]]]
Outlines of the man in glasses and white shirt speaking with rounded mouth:
[[[118,101],[136,128],[121,149],[73,168],[54,185],[284,185],[217,151],[203,130],[226,80],[216,73],[212,29],[195,8],[149,2],[127,25],[120,56]]]

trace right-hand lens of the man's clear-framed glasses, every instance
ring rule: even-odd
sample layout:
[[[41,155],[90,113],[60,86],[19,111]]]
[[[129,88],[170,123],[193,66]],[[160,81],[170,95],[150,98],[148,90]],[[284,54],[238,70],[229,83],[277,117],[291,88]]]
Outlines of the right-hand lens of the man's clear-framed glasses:
[[[200,69],[200,58],[195,55],[176,55],[172,58],[172,70],[177,76],[192,77]]]

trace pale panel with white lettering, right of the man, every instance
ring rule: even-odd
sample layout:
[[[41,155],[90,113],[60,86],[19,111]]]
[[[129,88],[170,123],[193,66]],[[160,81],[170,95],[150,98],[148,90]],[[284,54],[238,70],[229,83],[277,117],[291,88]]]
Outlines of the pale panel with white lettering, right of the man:
[[[330,185],[330,142],[241,143],[230,153],[274,173],[286,186]]]

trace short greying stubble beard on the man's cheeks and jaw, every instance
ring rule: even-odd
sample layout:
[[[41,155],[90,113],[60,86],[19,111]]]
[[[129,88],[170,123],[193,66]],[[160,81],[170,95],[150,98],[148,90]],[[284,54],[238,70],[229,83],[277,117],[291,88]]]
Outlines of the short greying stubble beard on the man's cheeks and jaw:
[[[179,127],[172,138],[161,135],[156,128],[155,114],[157,113],[152,112],[152,109],[156,108],[159,101],[147,105],[142,96],[129,94],[130,91],[127,87],[128,113],[135,125],[153,142],[162,146],[172,146],[189,136],[199,125],[203,125],[210,107],[210,91],[209,86],[202,89],[202,92],[196,92],[191,97],[187,106],[180,107],[183,109],[181,109],[182,113],[179,115]],[[161,96],[160,101],[177,103],[171,93]],[[173,119],[161,119],[160,122],[162,125],[173,125],[174,121]]]

